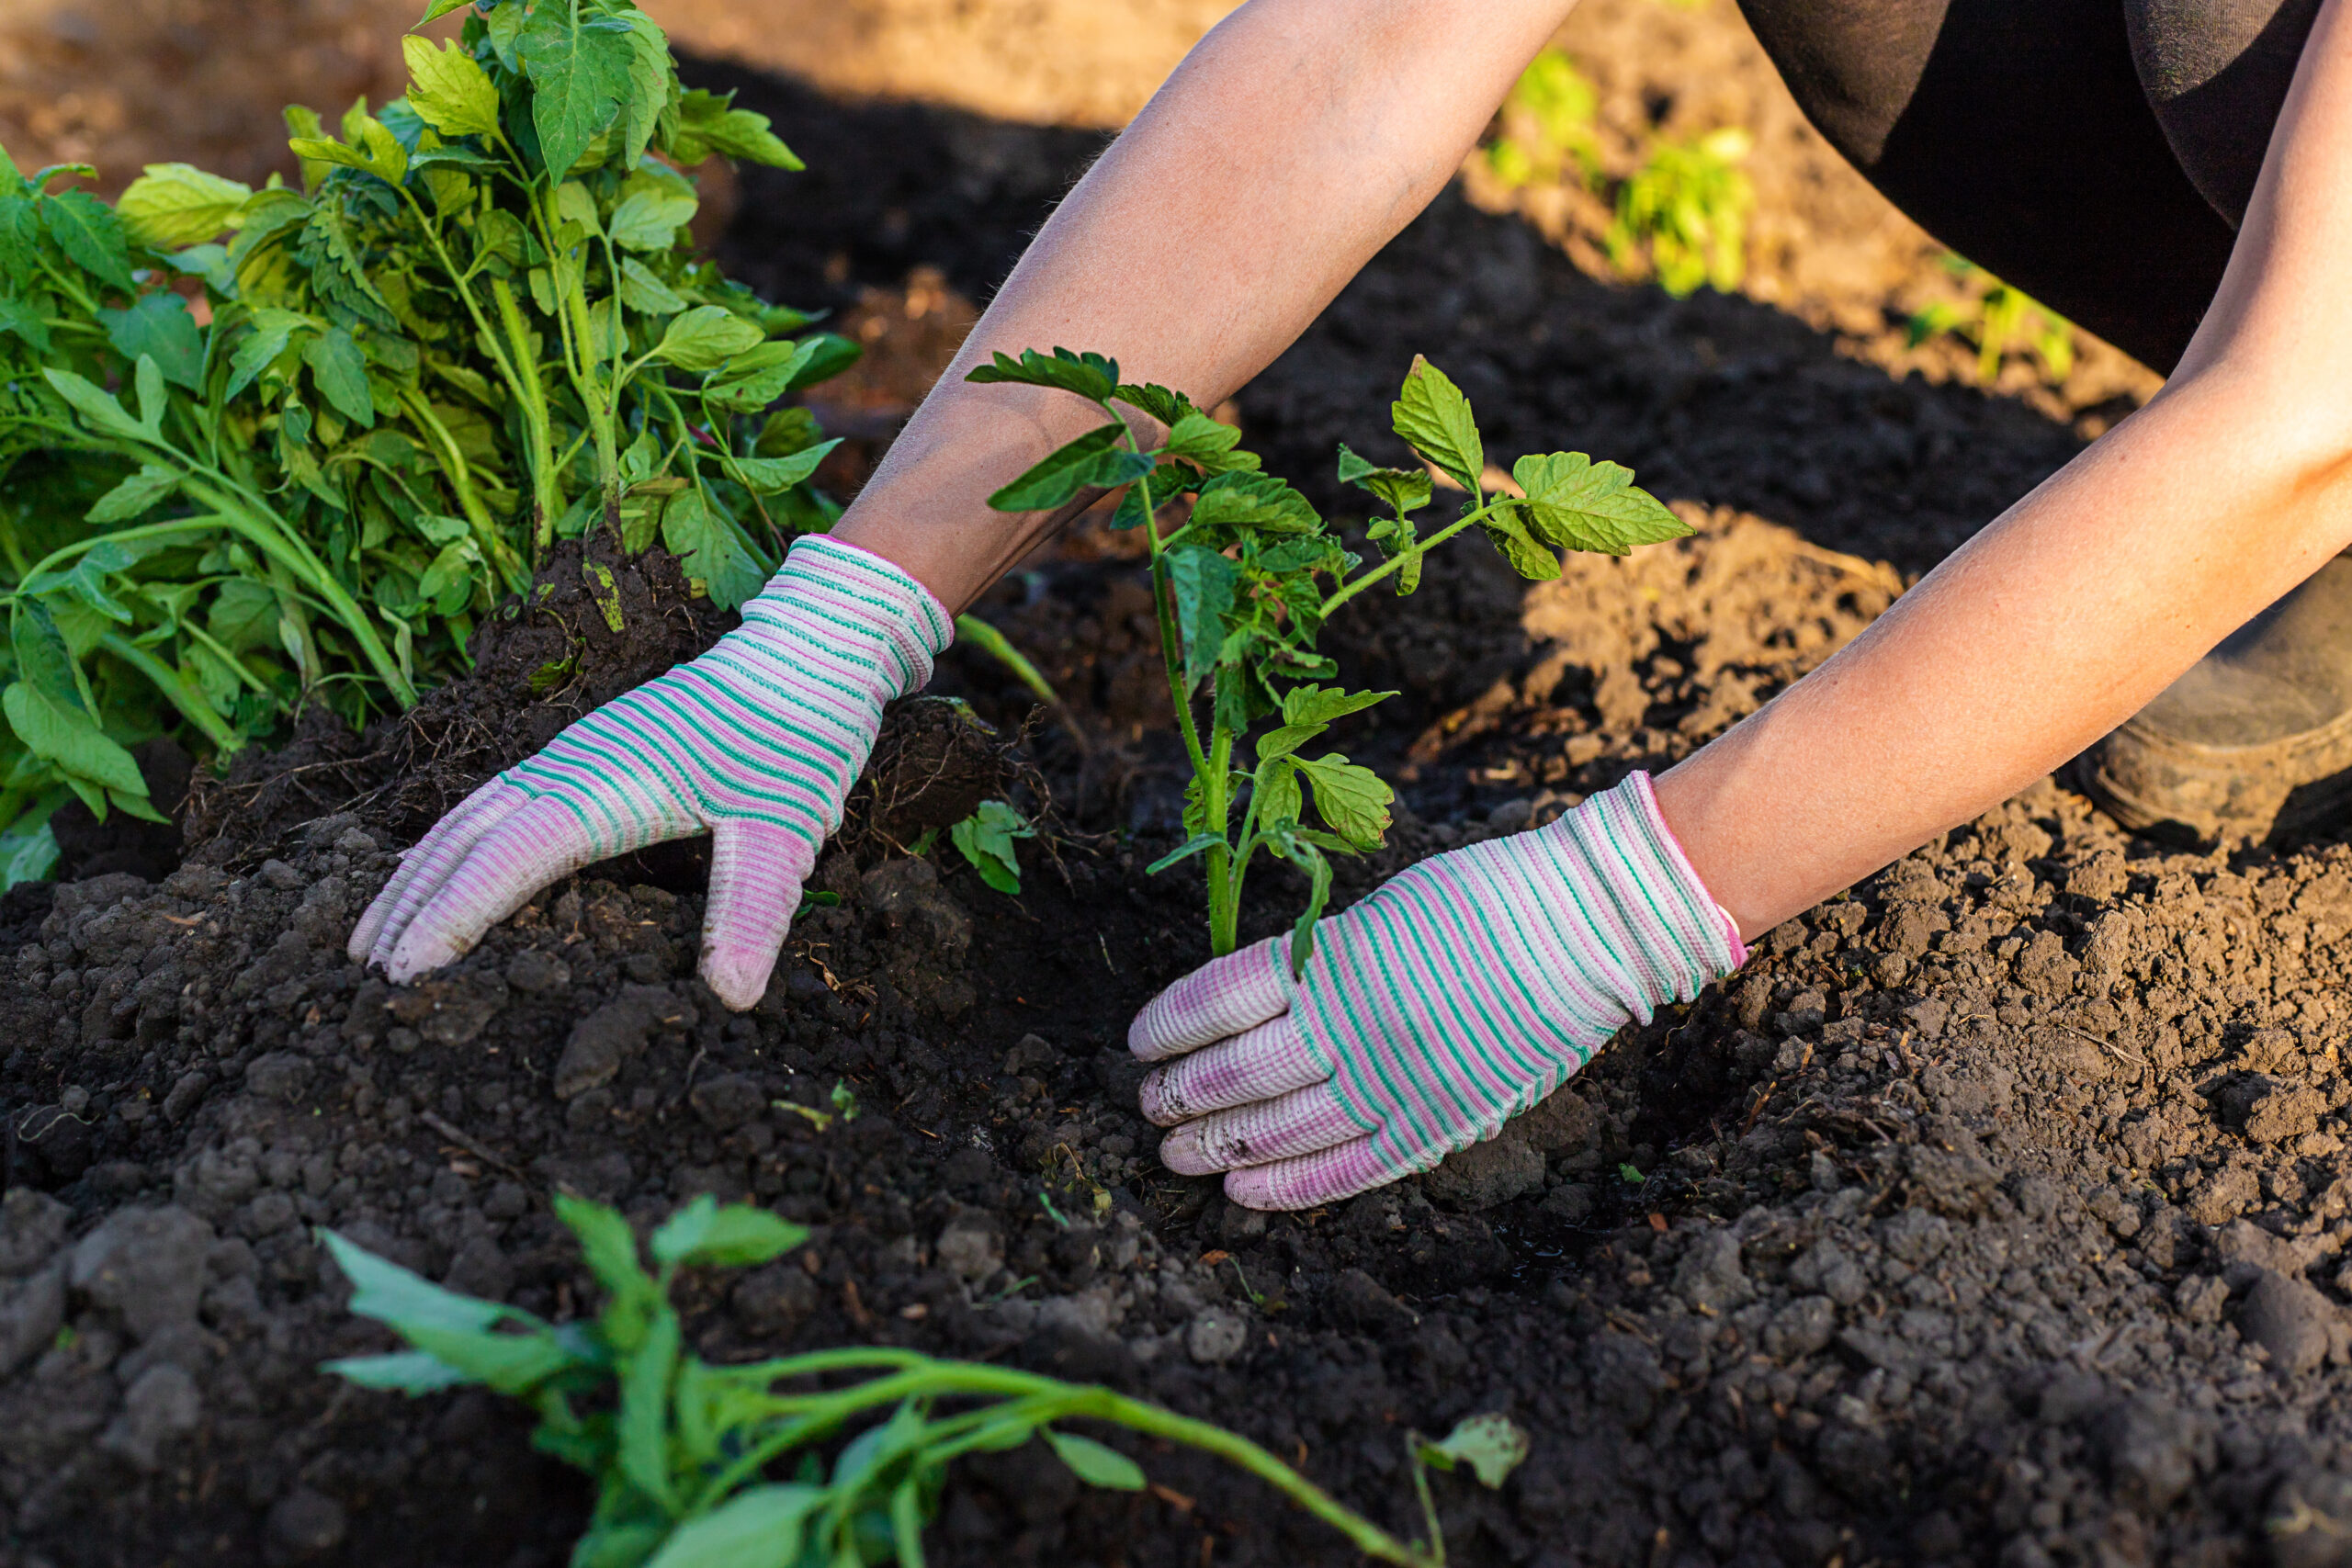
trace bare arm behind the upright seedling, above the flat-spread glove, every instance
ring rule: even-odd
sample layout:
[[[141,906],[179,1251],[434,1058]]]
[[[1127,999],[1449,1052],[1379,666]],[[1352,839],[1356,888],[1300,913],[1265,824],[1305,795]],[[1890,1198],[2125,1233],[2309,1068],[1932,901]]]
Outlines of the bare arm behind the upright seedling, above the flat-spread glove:
[[[1077,183],[835,529],[950,607],[1065,520],[985,496],[1098,418],[967,386],[995,350],[1091,348],[1214,407],[1444,186],[1571,0],[1254,0]]]

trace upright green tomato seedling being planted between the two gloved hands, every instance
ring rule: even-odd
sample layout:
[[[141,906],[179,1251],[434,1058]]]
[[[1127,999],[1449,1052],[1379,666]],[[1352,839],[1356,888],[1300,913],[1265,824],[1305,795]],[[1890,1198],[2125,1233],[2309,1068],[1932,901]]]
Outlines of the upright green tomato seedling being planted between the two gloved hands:
[[[1489,480],[1470,400],[1421,357],[1390,418],[1425,468],[1381,468],[1338,449],[1338,477],[1388,508],[1369,529],[1376,567],[1364,567],[1305,496],[1263,473],[1256,454],[1237,447],[1237,430],[1183,393],[1120,381],[1115,360],[1068,348],[1023,350],[1018,360],[997,353],[969,381],[1058,388],[1110,421],[1047,456],[988,505],[1054,510],[1087,491],[1124,487],[1112,527],[1143,529],[1150,545],[1160,656],[1192,762],[1185,844],[1150,870],[1204,860],[1209,945],[1218,954],[1240,943],[1242,879],[1261,849],[1308,875],[1308,907],[1291,931],[1291,961],[1303,966],[1331,893],[1327,853],[1364,853],[1388,835],[1395,799],[1388,783],[1343,755],[1303,750],[1336,719],[1395,696],[1322,684],[1338,675],[1315,651],[1331,611],[1378,583],[1414,592],[1428,552],[1472,527],[1519,576],[1538,581],[1559,576],[1557,550],[1625,555],[1691,531],[1632,484],[1632,470],[1581,451],[1524,456],[1508,484]],[[1122,409],[1157,421],[1160,442],[1145,442]],[[1423,534],[1414,515],[1435,496],[1430,470],[1465,501],[1456,517]],[[1162,527],[1162,512],[1174,515],[1174,527]],[[1270,719],[1277,722],[1251,741],[1251,729]],[[1235,762],[1244,741],[1249,766]]]

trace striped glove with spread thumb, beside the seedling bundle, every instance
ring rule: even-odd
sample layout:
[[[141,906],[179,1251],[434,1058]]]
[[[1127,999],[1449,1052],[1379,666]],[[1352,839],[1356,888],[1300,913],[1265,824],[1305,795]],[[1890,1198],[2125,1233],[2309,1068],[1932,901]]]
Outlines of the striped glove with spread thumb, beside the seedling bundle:
[[[837,538],[797,541],[708,654],[604,703],[445,816],[360,917],[350,957],[412,980],[557,877],[710,832],[701,969],[720,1001],[753,1006],[882,705],[931,679],[950,637],[948,611],[898,567]]]

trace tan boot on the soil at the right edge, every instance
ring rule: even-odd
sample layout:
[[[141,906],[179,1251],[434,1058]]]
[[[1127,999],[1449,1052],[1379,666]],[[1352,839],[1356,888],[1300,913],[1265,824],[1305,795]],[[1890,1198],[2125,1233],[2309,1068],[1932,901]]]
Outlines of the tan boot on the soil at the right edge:
[[[2232,632],[2077,762],[2131,830],[2201,842],[2312,827],[2352,802],[2352,557]]]

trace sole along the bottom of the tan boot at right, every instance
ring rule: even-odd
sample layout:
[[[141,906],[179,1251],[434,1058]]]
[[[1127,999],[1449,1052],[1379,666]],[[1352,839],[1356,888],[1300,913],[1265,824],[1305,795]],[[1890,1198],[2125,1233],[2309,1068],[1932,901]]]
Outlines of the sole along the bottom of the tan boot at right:
[[[2126,719],[2074,780],[2131,832],[2201,844],[2314,827],[2352,804],[2352,710],[2284,741],[2197,745]]]

